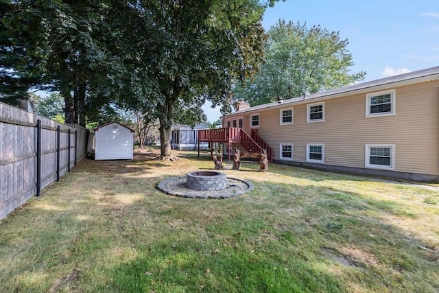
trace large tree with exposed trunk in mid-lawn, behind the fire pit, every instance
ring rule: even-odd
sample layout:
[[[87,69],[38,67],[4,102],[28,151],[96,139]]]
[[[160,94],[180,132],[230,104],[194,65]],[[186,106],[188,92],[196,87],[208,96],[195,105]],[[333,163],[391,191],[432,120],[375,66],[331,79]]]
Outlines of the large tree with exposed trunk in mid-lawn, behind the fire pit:
[[[148,93],[160,120],[161,154],[169,156],[171,126],[202,120],[202,104],[230,111],[233,80],[257,71],[262,60],[264,6],[258,0],[137,1],[150,23],[141,56],[150,71]]]

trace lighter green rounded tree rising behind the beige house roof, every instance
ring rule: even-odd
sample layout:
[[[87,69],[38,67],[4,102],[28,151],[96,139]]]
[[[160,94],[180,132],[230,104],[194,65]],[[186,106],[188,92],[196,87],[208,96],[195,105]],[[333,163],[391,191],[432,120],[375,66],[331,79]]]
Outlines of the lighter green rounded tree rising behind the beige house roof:
[[[268,31],[261,72],[236,86],[234,99],[255,106],[363,80],[365,72],[349,71],[353,60],[347,46],[339,32],[279,21]]]

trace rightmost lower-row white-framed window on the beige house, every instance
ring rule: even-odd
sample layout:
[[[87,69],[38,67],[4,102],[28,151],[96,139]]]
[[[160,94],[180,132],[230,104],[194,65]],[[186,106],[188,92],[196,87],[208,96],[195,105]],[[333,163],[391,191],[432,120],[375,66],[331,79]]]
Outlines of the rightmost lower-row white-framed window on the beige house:
[[[394,169],[395,145],[366,145],[366,167]]]

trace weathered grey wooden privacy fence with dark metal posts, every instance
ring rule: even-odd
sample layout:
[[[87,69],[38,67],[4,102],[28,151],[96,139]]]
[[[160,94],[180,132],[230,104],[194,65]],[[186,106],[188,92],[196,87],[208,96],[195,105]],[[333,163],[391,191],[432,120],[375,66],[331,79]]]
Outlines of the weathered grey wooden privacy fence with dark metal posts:
[[[0,219],[86,154],[88,130],[65,126],[0,102]]]

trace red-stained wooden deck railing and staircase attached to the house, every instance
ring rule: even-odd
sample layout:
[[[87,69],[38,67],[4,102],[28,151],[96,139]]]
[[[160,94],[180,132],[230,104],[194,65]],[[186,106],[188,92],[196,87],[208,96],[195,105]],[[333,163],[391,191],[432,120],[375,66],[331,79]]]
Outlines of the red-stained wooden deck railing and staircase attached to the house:
[[[233,127],[200,130],[198,131],[198,142],[200,143],[200,141],[229,143],[229,145],[230,143],[241,143],[242,147],[250,154],[260,153],[262,150],[265,150],[268,161],[272,162],[272,148],[254,130],[252,130],[251,135],[242,128]],[[230,152],[233,152],[233,150],[229,151],[229,156]]]

